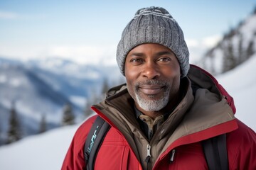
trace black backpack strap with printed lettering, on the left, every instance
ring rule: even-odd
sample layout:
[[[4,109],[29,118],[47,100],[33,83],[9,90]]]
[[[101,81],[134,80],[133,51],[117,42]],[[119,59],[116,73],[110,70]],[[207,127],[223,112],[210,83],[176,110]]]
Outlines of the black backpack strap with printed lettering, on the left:
[[[87,170],[94,169],[97,152],[102,145],[102,141],[104,140],[108,130],[110,130],[110,125],[100,118],[100,116],[97,116],[85,141],[84,156],[87,164]]]

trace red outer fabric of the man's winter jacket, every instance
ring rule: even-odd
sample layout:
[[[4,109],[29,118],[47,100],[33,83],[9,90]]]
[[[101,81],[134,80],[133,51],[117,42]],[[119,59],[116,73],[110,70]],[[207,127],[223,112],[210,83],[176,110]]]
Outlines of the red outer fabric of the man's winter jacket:
[[[213,80],[221,94],[227,96],[228,104],[235,113],[233,98],[213,77],[206,72],[204,74]],[[95,159],[95,169],[142,169],[141,163],[122,132],[98,108],[93,110],[112,126]],[[63,162],[63,170],[85,169],[83,147],[94,120],[95,116],[92,116],[78,128]],[[229,169],[256,169],[256,134],[238,119],[178,137],[159,156],[153,169],[208,169],[201,141],[223,133],[227,133]]]

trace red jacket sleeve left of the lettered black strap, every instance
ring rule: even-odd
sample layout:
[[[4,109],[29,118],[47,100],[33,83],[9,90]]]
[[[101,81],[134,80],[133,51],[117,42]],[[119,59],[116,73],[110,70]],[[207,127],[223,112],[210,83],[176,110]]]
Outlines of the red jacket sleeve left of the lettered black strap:
[[[86,137],[92,127],[96,115],[86,120],[75,132],[73,140],[70,144],[68,152],[63,161],[62,170],[81,170],[86,169],[83,148]]]

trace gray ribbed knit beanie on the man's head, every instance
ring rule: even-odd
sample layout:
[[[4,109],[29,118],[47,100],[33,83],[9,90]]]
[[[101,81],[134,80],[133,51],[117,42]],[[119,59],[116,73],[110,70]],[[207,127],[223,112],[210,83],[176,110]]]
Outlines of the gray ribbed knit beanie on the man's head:
[[[124,28],[117,46],[117,64],[123,75],[124,62],[129,51],[145,43],[168,47],[178,59],[181,77],[186,77],[189,69],[188,47],[180,26],[166,9],[153,6],[141,8]]]

